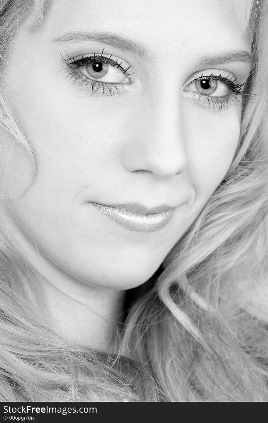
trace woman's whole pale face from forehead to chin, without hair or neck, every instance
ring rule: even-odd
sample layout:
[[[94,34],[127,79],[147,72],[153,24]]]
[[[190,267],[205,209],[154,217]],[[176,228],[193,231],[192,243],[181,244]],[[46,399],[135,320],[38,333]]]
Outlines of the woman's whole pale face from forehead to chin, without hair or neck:
[[[39,29],[19,29],[4,90],[39,170],[2,137],[1,189],[50,266],[132,288],[196,219],[238,145],[239,19],[233,0],[54,0]]]

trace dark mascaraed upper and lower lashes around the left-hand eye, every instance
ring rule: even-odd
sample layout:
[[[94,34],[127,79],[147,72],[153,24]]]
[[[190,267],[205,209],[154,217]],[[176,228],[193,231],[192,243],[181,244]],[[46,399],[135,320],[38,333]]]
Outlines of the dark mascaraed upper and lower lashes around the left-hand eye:
[[[122,89],[124,89],[124,85],[123,84],[116,84],[116,83],[105,83],[102,81],[95,81],[95,80],[91,80],[90,78],[85,77],[83,74],[81,74],[80,72],[77,72],[76,69],[82,68],[83,66],[88,65],[88,63],[94,63],[96,60],[100,63],[104,63],[105,65],[109,64],[113,67],[116,67],[116,69],[120,69],[124,74],[126,74],[127,76],[132,75],[132,74],[127,74],[127,71],[131,68],[131,66],[128,66],[127,68],[124,68],[122,65],[122,62],[118,63],[118,60],[116,59],[113,60],[111,59],[112,55],[110,55],[109,57],[103,56],[103,51],[101,55],[95,55],[95,52],[93,52],[93,55],[89,55],[89,56],[84,56],[82,54],[78,55],[76,57],[76,59],[74,60],[74,58],[70,58],[69,55],[67,54],[66,50],[65,53],[69,59],[66,60],[66,58],[64,58],[64,56],[60,53],[61,57],[63,58],[64,62],[66,63],[66,65],[68,66],[69,69],[73,69],[72,72],[69,73],[69,75],[66,76],[66,79],[71,75],[69,82],[72,80],[73,77],[76,77],[73,81],[73,83],[75,83],[75,81],[78,79],[80,80],[80,82],[77,82],[77,85],[83,85],[84,83],[86,84],[86,88],[85,89],[90,89],[88,88],[88,84],[91,85],[91,96],[93,96],[99,88],[102,88],[102,93],[104,94],[104,91],[107,90],[110,95],[112,96],[112,90],[115,90],[115,94],[118,94],[118,88],[121,87]]]

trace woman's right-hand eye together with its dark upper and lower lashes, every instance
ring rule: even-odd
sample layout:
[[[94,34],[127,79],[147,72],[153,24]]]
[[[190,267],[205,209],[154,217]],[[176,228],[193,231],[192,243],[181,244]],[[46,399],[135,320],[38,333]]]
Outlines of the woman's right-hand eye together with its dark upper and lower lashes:
[[[193,98],[199,102],[204,102],[209,108],[217,107],[218,111],[227,110],[230,100],[239,102],[239,97],[243,97],[243,84],[235,83],[237,78],[230,74],[227,77],[222,74],[214,75],[213,73],[202,75],[191,81],[185,87],[185,91],[190,91]]]

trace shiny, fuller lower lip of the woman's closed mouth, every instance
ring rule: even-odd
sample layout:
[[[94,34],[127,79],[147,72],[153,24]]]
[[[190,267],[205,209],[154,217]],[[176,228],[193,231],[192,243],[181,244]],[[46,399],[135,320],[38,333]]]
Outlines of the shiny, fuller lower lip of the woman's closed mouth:
[[[140,232],[158,231],[170,222],[174,214],[174,209],[162,211],[161,213],[140,214],[116,207],[104,206],[103,204],[91,204],[119,225],[132,231]]]

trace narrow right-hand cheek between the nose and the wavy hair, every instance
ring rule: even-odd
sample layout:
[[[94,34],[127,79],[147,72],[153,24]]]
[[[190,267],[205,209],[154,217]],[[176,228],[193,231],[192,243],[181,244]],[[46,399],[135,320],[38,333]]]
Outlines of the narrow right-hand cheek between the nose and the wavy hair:
[[[196,191],[196,204],[204,203],[224,179],[240,135],[240,107],[224,112],[200,112],[188,121],[188,174]],[[186,119],[187,120],[187,119]]]

